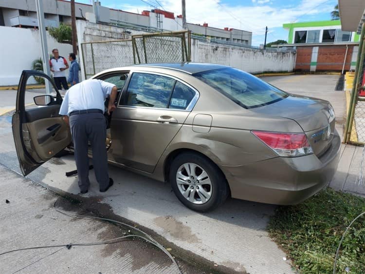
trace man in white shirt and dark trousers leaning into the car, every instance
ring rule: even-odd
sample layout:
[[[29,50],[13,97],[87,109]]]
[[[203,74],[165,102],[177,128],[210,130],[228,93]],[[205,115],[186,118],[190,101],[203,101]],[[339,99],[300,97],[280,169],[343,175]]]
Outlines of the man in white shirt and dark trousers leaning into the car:
[[[106,192],[113,180],[108,173],[108,158],[105,146],[107,134],[104,117],[104,101],[109,97],[108,114],[115,109],[117,87],[114,84],[88,79],[73,85],[63,99],[59,114],[71,127],[76,161],[78,186],[85,194],[89,190],[88,142],[91,142],[96,180],[100,192]]]

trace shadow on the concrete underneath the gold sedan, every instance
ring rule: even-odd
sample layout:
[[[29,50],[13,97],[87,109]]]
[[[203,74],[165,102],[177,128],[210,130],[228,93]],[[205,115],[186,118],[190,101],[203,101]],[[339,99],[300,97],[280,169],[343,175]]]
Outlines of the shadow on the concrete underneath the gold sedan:
[[[204,216],[207,219],[264,231],[270,215],[274,214],[276,207],[270,204],[228,198],[224,204],[211,212],[197,213],[186,208],[178,200],[169,183],[150,179],[112,165],[109,165],[109,173],[110,177],[114,179],[114,185],[106,193],[100,193],[94,172],[91,170],[91,186],[85,197],[99,197],[103,203],[110,204],[115,214],[118,215],[118,211],[120,211],[122,217],[126,218],[128,218],[128,212],[138,212],[141,216],[145,214],[156,218],[173,216],[176,220],[200,215],[201,221],[204,220]],[[65,191],[76,194],[77,188],[77,178],[74,176]],[[133,218],[132,221],[138,223],[138,217]]]

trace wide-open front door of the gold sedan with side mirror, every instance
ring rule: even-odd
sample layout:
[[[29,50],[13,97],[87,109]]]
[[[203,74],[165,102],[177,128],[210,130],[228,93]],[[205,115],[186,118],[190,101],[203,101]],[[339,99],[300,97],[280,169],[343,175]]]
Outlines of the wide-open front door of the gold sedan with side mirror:
[[[27,84],[33,83],[34,79],[49,85],[51,94],[46,94],[45,88],[27,89]],[[38,71],[22,72],[12,128],[24,176],[71,143],[70,128],[58,114],[61,103],[62,97],[49,76]]]

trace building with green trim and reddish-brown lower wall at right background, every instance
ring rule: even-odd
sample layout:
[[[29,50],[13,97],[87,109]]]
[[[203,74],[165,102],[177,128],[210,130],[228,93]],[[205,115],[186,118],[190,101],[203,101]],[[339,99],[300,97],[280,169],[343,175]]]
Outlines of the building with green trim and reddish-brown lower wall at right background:
[[[349,71],[356,65],[359,35],[343,31],[340,20],[283,24],[295,46],[296,71]]]

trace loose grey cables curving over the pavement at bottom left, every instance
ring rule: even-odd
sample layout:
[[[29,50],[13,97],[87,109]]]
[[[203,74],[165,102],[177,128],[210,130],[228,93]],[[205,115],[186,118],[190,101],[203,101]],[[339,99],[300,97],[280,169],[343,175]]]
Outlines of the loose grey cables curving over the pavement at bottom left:
[[[59,212],[63,215],[66,215],[66,216],[73,217],[73,218],[90,218],[90,219],[98,219],[98,220],[104,220],[104,221],[109,221],[109,222],[112,222],[112,223],[121,224],[121,225],[124,225],[124,226],[128,226],[131,229],[146,235],[146,237],[140,236],[140,235],[126,235],[126,236],[121,236],[121,237],[117,237],[117,238],[113,238],[113,239],[109,239],[109,240],[105,240],[105,241],[93,242],[93,243],[71,243],[71,244],[62,244],[62,245],[50,245],[50,246],[36,246],[36,247],[20,248],[20,249],[14,249],[14,250],[9,250],[9,251],[0,253],[0,256],[4,255],[4,254],[9,254],[9,253],[13,253],[13,252],[17,252],[17,251],[23,251],[23,250],[30,250],[30,249],[42,249],[42,248],[53,248],[53,247],[66,247],[67,249],[70,249],[72,246],[92,246],[92,245],[113,244],[113,243],[121,242],[126,238],[140,238],[140,239],[146,240],[150,244],[154,245],[155,247],[157,247],[161,251],[163,251],[164,254],[166,254],[171,259],[171,261],[175,264],[175,266],[179,270],[179,273],[182,274],[182,272],[180,270],[180,267],[177,264],[177,262],[175,261],[174,257],[159,242],[157,242],[150,235],[146,234],[145,232],[143,232],[142,230],[140,230],[138,228],[135,228],[135,227],[133,227],[131,225],[128,225],[126,223],[119,222],[119,221],[112,220],[112,219],[101,218],[101,217],[93,217],[93,216],[87,216],[87,215],[68,214],[68,213],[62,212],[58,209],[55,209],[55,211],[57,211],[57,212]]]

